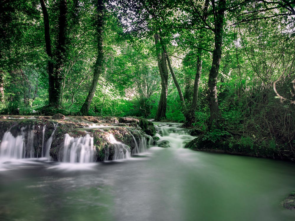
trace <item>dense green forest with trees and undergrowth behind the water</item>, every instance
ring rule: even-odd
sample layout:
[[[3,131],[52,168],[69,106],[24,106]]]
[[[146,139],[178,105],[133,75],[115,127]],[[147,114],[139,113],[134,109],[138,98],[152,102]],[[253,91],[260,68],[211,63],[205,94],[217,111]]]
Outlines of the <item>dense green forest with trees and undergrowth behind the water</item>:
[[[294,155],[294,7],[1,0],[0,112],[176,121]]]

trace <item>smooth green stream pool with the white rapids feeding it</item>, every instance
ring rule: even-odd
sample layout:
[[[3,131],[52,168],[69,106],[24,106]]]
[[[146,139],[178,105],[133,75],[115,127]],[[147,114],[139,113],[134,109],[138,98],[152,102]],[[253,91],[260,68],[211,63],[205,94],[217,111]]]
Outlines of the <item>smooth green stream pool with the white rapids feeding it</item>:
[[[0,164],[0,220],[288,221],[294,163],[184,149],[194,137],[156,123],[158,143],[128,159]]]

